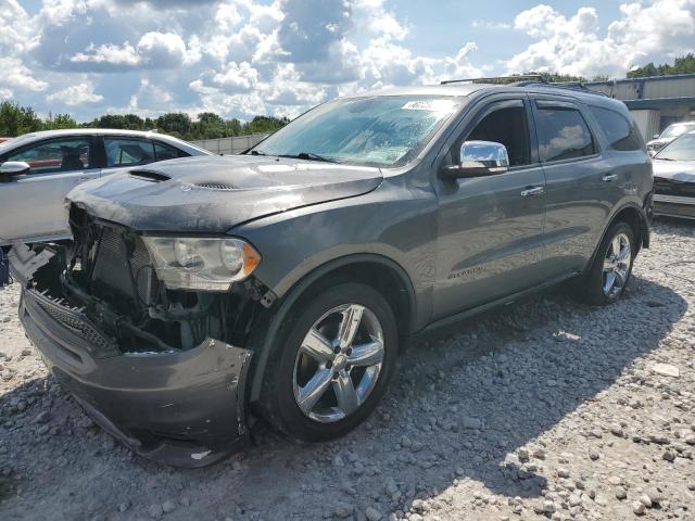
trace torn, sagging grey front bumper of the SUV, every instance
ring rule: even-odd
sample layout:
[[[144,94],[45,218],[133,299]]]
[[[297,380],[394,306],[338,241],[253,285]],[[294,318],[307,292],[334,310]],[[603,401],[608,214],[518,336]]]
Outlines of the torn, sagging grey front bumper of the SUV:
[[[24,282],[26,333],[106,432],[146,458],[177,467],[211,465],[245,445],[250,351],[206,339],[186,351],[121,353],[79,309],[33,289],[29,265],[46,263],[13,258]]]

